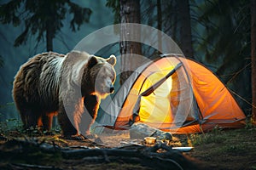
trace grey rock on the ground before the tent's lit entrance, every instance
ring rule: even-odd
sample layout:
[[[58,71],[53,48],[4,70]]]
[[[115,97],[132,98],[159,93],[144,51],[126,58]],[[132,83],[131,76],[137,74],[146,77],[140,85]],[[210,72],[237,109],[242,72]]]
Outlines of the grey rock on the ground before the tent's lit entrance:
[[[134,123],[131,125],[130,138],[131,139],[145,139],[147,137],[154,137],[157,140],[172,140],[172,134],[166,133],[158,128],[150,127],[143,123]]]

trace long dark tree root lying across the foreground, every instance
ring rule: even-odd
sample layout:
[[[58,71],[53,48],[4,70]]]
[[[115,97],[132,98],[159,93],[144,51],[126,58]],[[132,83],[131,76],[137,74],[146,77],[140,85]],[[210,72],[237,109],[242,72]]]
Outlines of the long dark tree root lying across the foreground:
[[[131,164],[141,164],[145,167],[161,170],[198,169],[195,164],[187,160],[181,152],[172,150],[172,147],[167,146],[166,144],[155,144],[153,147],[136,145],[132,147],[132,149],[128,147],[127,149],[125,149],[125,147],[122,149],[74,149],[70,147],[63,148],[55,143],[48,144],[44,141],[39,142],[33,139],[13,139],[0,145],[1,159],[5,159],[5,156],[12,155],[22,157],[22,155],[29,155],[38,151],[40,152],[40,156],[42,156],[42,153],[48,154],[47,156],[61,156],[62,161],[77,160],[94,163],[125,162]],[[31,169],[57,169],[55,166],[39,166],[17,163],[11,163],[10,166]]]

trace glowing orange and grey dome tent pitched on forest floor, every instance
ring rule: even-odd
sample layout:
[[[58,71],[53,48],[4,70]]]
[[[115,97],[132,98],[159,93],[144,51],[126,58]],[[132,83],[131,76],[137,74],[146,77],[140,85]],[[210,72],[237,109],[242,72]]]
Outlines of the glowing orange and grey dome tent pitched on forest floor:
[[[127,129],[142,122],[171,133],[242,127],[245,115],[205,66],[168,54],[137,69],[104,109],[99,123]]]

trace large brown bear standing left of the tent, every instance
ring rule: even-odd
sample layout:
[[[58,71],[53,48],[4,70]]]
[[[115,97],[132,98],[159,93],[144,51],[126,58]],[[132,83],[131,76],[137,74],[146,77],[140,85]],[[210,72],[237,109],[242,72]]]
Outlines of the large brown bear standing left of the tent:
[[[13,88],[24,127],[50,130],[53,116],[58,115],[65,137],[84,139],[82,134],[90,134],[101,99],[113,93],[115,63],[114,55],[103,59],[79,51],[49,52],[29,59],[20,66]]]

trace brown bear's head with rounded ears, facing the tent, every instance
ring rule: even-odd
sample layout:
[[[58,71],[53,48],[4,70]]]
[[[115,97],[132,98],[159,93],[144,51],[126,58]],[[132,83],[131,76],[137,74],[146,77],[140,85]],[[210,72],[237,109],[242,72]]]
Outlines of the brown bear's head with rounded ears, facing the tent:
[[[87,74],[90,78],[90,86],[94,88],[92,94],[106,98],[108,94],[113,94],[113,83],[115,81],[116,73],[113,66],[116,64],[116,58],[111,55],[108,59],[90,56],[87,63]]]

